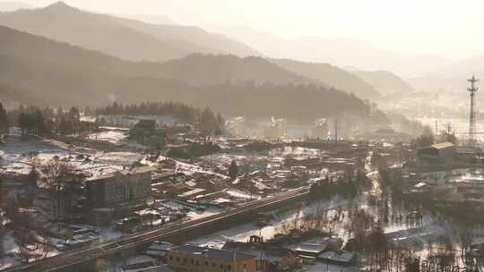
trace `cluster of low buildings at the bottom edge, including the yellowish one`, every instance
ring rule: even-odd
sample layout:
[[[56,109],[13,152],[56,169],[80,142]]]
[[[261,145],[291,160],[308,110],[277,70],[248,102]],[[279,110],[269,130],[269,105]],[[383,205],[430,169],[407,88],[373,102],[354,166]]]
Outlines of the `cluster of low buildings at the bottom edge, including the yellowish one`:
[[[342,267],[353,266],[358,262],[358,255],[341,251],[341,241],[334,237],[326,237],[319,243],[277,246],[264,242],[260,236],[252,235],[247,242],[228,241],[220,249],[156,241],[142,254],[151,260],[137,264],[138,267],[171,269],[169,271],[174,272],[276,272],[298,270],[315,261]],[[130,269],[133,267],[128,265],[123,268],[124,271],[132,271]]]

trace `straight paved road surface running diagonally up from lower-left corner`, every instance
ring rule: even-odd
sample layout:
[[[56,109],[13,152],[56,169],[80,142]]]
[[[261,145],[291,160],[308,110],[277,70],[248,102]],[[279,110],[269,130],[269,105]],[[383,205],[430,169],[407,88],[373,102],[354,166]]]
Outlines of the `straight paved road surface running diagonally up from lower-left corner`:
[[[132,248],[144,242],[151,242],[162,237],[169,236],[171,234],[177,234],[181,231],[202,227],[204,225],[210,225],[213,222],[225,219],[227,217],[234,217],[238,214],[245,213],[251,209],[264,208],[269,205],[277,204],[278,202],[296,199],[309,192],[309,186],[301,187],[296,190],[280,193],[276,196],[265,198],[263,200],[255,200],[247,203],[244,206],[238,208],[232,208],[229,211],[222,212],[210,217],[203,217],[200,219],[186,221],[182,224],[174,222],[172,224],[164,225],[155,230],[150,230],[140,234],[133,234],[125,236],[116,242],[108,242],[99,244],[96,246],[84,247],[81,249],[67,251],[65,253],[50,257],[47,259],[41,259],[29,264],[16,266],[13,268],[7,268],[4,272],[13,271],[56,271],[62,268],[73,267],[75,264],[82,263],[89,259],[96,259],[103,256],[114,254],[118,251],[123,251],[127,248]]]

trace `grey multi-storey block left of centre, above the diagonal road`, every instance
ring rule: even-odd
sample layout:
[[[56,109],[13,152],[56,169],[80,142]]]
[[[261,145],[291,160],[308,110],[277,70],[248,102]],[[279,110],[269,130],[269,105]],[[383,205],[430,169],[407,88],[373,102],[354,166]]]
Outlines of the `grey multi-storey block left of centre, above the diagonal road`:
[[[86,201],[91,208],[110,207],[151,197],[151,173],[148,166],[91,178],[86,182]]]

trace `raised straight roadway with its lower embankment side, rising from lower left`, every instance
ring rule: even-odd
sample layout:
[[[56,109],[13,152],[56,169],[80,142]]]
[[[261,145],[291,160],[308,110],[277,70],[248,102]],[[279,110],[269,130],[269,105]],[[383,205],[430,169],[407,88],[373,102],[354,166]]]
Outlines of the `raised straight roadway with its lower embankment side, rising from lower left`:
[[[309,193],[310,186],[279,193],[270,198],[255,200],[238,208],[185,222],[173,222],[160,228],[143,233],[124,236],[115,242],[82,247],[73,251],[66,251],[59,255],[4,269],[5,272],[18,271],[86,271],[83,263],[99,258],[108,258],[123,251],[134,251],[157,239],[184,242],[190,236],[196,237],[220,230],[227,224],[234,225],[246,222],[246,215],[281,206],[281,204],[301,200]]]

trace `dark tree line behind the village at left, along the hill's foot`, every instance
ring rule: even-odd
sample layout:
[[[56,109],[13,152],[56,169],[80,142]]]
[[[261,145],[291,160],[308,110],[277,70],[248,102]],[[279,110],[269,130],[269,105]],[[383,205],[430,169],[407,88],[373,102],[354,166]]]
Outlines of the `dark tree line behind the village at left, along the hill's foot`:
[[[112,103],[94,109],[86,106],[86,115],[170,115],[180,122],[193,124],[205,135],[219,135],[223,132],[225,120],[220,114],[206,107],[200,109],[180,102],[143,102],[140,104]],[[18,106],[6,111],[0,103],[0,134],[6,133],[9,126],[15,125],[22,130],[22,135],[53,136],[81,132],[92,132],[98,129],[99,123],[85,122],[81,119],[77,106],[69,110],[62,107]],[[99,122],[98,122],[99,121]]]

